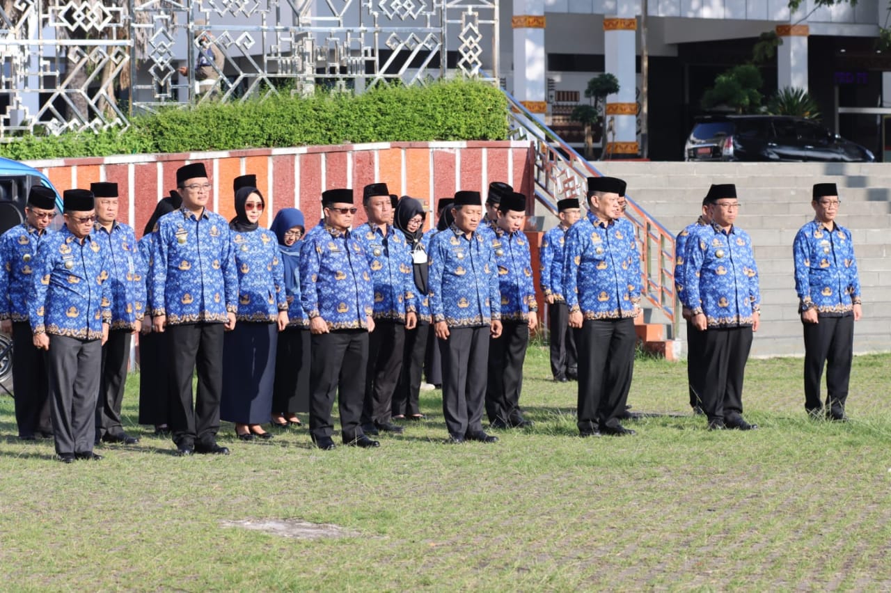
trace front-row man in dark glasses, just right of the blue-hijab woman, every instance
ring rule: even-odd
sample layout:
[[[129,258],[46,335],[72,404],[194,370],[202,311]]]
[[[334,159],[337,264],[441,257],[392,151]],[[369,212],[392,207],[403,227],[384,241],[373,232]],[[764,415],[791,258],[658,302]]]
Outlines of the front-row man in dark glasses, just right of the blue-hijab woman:
[[[334,449],[331,407],[336,395],[343,442],[378,447],[380,443],[364,434],[361,423],[368,334],[374,331],[372,269],[349,230],[356,215],[353,191],[324,191],[322,206],[324,227],[307,235],[300,250],[300,299],[313,348],[309,433],[319,449]]]

